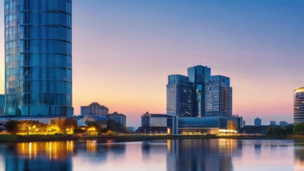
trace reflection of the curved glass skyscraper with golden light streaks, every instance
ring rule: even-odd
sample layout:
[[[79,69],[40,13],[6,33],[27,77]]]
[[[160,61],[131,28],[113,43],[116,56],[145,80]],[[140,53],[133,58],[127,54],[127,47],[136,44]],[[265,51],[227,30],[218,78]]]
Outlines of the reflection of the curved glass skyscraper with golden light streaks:
[[[6,171],[71,171],[73,141],[26,142],[8,145]]]

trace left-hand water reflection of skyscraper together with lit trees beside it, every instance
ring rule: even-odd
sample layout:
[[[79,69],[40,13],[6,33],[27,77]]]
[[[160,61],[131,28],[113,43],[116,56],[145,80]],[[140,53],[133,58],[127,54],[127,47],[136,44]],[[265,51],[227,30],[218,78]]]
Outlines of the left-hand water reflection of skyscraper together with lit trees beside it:
[[[1,169],[5,171],[72,171],[77,170],[77,168],[72,168],[72,158],[77,156],[83,157],[83,162],[86,163],[102,164],[106,162],[108,153],[115,155],[125,153],[125,144],[112,142],[112,140],[103,142],[84,140],[2,144],[0,155],[5,156],[5,159],[2,160],[4,166]]]

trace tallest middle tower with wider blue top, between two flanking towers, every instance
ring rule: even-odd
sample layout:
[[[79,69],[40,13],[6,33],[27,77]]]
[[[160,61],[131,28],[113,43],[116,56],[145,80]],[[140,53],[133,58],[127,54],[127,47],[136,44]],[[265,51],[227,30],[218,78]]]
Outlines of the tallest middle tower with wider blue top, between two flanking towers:
[[[188,68],[188,77],[193,83],[192,101],[193,116],[204,117],[205,115],[205,84],[210,78],[211,69],[203,66]]]

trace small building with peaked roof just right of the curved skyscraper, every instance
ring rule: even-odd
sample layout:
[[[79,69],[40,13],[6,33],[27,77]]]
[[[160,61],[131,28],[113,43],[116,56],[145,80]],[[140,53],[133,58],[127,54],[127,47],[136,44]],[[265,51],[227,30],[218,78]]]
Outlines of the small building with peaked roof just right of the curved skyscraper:
[[[109,114],[109,109],[99,103],[93,102],[88,106],[80,107],[81,115],[97,115],[106,116]]]

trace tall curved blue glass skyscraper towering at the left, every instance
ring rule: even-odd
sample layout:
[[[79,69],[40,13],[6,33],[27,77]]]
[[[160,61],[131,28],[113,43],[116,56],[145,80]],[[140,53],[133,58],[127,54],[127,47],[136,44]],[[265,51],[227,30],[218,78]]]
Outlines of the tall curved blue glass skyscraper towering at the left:
[[[6,116],[72,116],[71,0],[4,0]]]

